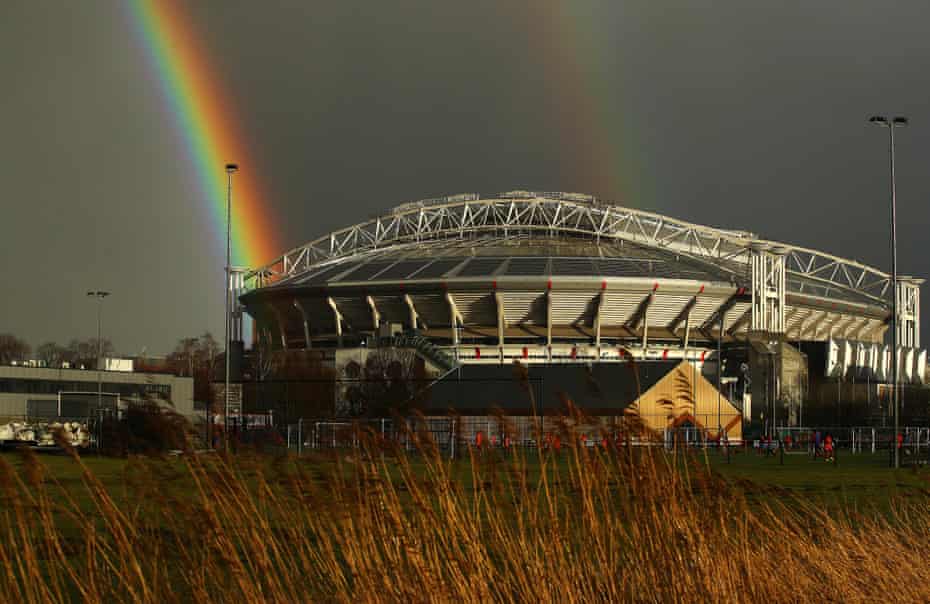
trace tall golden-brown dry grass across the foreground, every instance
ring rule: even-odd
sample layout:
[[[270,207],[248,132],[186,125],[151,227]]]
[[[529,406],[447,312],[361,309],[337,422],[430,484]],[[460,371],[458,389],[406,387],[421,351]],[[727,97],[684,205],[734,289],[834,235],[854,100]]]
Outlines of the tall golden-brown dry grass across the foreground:
[[[927,502],[897,517],[750,504],[659,450],[132,459],[108,490],[0,458],[17,602],[930,601]],[[561,457],[559,457],[561,456]]]

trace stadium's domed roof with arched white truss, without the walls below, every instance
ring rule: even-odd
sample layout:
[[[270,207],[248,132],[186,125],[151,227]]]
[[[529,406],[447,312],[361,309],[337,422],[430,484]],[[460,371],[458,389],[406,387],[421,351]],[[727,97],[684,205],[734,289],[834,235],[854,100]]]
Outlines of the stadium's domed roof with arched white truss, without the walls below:
[[[790,293],[881,308],[890,304],[889,275],[854,260],[588,195],[528,191],[402,204],[294,248],[251,271],[246,281],[254,288],[552,274],[713,278],[750,287],[752,247],[785,254]],[[580,257],[593,261],[573,260]]]

